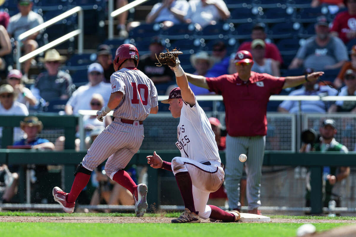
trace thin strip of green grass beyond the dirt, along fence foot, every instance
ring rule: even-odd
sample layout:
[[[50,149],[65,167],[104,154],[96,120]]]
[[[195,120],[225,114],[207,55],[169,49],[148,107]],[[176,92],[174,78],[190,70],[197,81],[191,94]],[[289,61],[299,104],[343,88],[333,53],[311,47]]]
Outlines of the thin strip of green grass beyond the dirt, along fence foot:
[[[180,212],[167,212],[167,213],[146,213],[146,217],[169,217],[174,218],[178,217]],[[21,211],[6,211],[0,212],[0,216],[132,216],[134,217],[135,214],[133,213],[81,213],[81,212],[74,212],[72,214],[63,213],[63,212],[21,212]],[[307,220],[356,220],[356,216],[336,216],[336,217],[329,217],[329,216],[283,216],[283,215],[268,215],[272,219],[307,219]]]

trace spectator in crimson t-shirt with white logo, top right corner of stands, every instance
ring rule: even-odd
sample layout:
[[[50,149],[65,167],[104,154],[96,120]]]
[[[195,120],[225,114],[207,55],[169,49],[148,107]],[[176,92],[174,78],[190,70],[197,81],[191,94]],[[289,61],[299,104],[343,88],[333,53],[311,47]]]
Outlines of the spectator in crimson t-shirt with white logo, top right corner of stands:
[[[351,39],[356,38],[356,0],[344,0],[347,11],[336,15],[331,34],[339,37],[346,44]]]

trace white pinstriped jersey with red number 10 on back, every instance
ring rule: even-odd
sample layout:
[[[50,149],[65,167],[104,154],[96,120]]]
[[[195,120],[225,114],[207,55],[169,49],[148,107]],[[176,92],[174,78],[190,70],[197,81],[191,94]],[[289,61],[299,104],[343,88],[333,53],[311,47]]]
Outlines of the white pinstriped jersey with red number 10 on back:
[[[124,93],[124,98],[114,109],[114,117],[145,120],[151,108],[158,105],[155,85],[140,70],[122,68],[110,76],[110,82],[111,93]]]

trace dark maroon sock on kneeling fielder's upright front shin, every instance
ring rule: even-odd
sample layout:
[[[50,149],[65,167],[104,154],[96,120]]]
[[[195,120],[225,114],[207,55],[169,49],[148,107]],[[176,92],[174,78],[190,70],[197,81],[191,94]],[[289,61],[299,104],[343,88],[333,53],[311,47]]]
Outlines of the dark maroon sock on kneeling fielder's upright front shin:
[[[176,180],[180,194],[182,194],[184,206],[188,208],[189,211],[197,213],[194,206],[192,179],[190,178],[189,172],[176,173]]]

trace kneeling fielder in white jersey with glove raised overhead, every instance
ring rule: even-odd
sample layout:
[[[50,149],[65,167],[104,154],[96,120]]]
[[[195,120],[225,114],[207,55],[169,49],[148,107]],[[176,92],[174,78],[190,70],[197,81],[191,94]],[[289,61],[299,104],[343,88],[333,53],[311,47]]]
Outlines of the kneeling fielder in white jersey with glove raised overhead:
[[[235,222],[240,219],[238,211],[226,212],[217,206],[206,205],[209,194],[218,190],[224,182],[224,169],[209,120],[188,85],[187,77],[179,65],[177,52],[179,51],[172,50],[161,53],[158,61],[174,70],[179,86],[162,103],[169,103],[169,110],[174,118],[180,117],[176,145],[181,157],[174,157],[172,162],[166,162],[154,152],[153,156],[147,156],[147,163],[153,168],[172,171],[176,177],[185,211],[177,219],[173,219],[172,223],[200,222],[200,218],[209,217]]]

